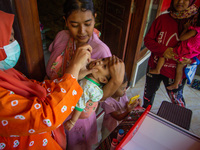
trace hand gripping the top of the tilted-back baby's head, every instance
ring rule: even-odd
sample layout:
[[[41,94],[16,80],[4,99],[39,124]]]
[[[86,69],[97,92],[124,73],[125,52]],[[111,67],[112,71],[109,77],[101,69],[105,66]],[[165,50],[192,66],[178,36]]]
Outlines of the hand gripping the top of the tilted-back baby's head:
[[[110,57],[109,60],[109,70],[111,78],[114,81],[119,82],[121,85],[124,80],[124,73],[125,73],[124,62],[118,57],[113,55],[113,57]]]

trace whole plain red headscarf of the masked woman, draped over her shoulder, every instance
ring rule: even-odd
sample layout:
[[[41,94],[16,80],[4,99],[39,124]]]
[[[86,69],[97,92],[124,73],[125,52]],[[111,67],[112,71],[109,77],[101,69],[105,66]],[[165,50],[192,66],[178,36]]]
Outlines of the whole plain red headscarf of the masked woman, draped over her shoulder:
[[[3,46],[9,44],[14,15],[0,11],[0,20],[0,61],[2,61],[7,57]],[[29,99],[37,96],[43,100],[46,97],[45,88],[27,79],[14,68],[0,70],[0,87]]]

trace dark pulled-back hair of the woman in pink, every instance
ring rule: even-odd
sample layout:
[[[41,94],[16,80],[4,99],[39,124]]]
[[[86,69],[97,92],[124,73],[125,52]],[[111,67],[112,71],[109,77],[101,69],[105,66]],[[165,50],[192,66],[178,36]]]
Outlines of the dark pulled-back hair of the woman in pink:
[[[63,7],[64,16],[67,19],[75,10],[91,10],[95,16],[95,10],[92,0],[66,0]]]

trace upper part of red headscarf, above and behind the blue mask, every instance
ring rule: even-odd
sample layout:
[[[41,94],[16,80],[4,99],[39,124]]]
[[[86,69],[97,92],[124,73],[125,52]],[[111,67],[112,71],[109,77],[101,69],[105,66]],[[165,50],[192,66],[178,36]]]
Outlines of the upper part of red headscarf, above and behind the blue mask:
[[[14,21],[14,15],[8,14],[3,11],[0,11],[0,61],[4,60],[7,56],[5,51],[3,50],[3,46],[9,44],[12,24]]]

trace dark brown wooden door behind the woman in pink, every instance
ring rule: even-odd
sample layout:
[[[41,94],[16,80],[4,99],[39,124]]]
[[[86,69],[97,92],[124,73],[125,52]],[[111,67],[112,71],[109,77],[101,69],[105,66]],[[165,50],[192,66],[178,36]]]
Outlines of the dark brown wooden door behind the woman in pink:
[[[102,41],[111,53],[124,61],[134,0],[105,0],[102,19]],[[112,25],[108,28],[108,24]],[[117,33],[115,33],[117,32]],[[115,34],[115,35],[113,35]],[[113,39],[114,38],[114,39]]]

